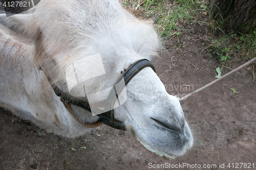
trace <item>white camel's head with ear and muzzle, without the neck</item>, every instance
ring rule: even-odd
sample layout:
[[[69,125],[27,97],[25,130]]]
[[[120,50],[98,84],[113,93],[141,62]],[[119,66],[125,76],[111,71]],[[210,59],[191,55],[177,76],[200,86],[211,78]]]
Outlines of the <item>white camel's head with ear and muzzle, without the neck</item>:
[[[67,74],[72,64],[78,65],[85,90],[100,91],[109,83],[115,85],[118,74],[134,62],[151,60],[161,46],[152,26],[125,11],[117,0],[41,0],[26,14],[1,14],[0,23],[34,46],[35,67],[43,69],[61,90],[73,91],[73,100],[84,93],[78,86],[69,89]],[[112,81],[89,79],[112,73],[117,74]],[[142,69],[124,90],[126,97],[114,109],[115,118],[145,148],[172,159],[192,147],[193,136],[179,100],[166,92],[152,68]],[[108,92],[100,97],[106,98]],[[72,108],[84,122],[99,118],[77,106]]]

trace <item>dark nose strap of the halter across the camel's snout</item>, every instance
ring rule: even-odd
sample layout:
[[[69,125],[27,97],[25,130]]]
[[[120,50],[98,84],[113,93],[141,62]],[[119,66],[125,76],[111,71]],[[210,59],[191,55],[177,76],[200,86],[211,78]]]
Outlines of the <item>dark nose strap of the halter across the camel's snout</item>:
[[[105,125],[108,125],[112,128],[120,129],[120,130],[125,129],[124,123],[120,122],[119,120],[114,118],[114,109],[112,109],[112,108],[114,108],[114,104],[117,100],[116,96],[119,96],[119,94],[121,93],[121,91],[123,90],[125,85],[128,84],[130,82],[130,80],[145,67],[151,67],[156,72],[156,69],[153,66],[153,64],[151,64],[151,62],[148,61],[147,59],[138,60],[137,62],[130,65],[130,67],[127,68],[123,72],[123,74],[122,74],[120,80],[118,81],[118,83],[116,83],[116,85],[112,88],[112,90],[115,90],[115,93],[111,92],[110,95],[108,96],[108,99],[106,100],[107,102],[110,101],[110,103],[106,103],[107,107],[111,106],[111,109],[109,109],[110,111],[97,115],[97,116],[100,117],[100,120]],[[124,84],[120,85],[119,82],[122,80],[122,78],[124,79]]]

